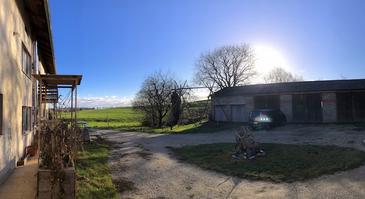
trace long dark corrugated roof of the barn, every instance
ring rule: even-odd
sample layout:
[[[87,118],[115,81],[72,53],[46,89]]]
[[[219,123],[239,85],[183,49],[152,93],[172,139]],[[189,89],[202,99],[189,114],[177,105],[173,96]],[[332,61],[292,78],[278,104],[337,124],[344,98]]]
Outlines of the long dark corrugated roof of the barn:
[[[361,80],[331,80],[291,83],[268,83],[223,88],[215,93],[216,96],[245,95],[245,94],[274,94],[285,92],[308,92],[329,90],[358,90],[365,89],[365,79]]]

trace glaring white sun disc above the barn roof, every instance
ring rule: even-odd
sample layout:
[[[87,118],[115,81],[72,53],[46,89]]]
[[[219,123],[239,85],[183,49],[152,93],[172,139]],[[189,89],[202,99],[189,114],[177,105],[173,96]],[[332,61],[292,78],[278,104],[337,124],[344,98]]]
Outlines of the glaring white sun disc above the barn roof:
[[[266,73],[275,66],[282,67],[285,70],[289,69],[287,62],[277,50],[264,46],[256,46],[255,49],[257,56],[256,70],[259,73]]]

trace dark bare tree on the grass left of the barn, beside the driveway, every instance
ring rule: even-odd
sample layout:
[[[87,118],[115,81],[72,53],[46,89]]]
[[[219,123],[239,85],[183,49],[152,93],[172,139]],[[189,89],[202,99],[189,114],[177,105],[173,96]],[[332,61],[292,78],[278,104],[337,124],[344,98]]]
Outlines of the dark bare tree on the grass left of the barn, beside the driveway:
[[[166,74],[162,70],[149,75],[142,83],[140,91],[132,100],[133,110],[142,111],[151,117],[152,125],[158,120],[162,126],[164,116],[171,109],[171,89],[174,87],[173,75],[170,71]]]

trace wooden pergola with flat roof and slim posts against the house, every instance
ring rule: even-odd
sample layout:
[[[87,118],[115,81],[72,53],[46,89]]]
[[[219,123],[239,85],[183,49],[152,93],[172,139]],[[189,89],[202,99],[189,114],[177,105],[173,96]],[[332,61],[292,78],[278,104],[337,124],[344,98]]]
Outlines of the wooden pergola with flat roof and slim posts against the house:
[[[70,88],[72,89],[72,96],[71,96],[71,119],[69,120],[71,123],[77,123],[77,85],[80,85],[82,75],[36,75],[35,77],[39,81],[39,88],[38,88],[38,99],[39,99],[39,111],[38,111],[38,133],[41,131],[41,124],[42,123],[56,123],[61,122],[61,120],[41,120],[41,113],[42,113],[42,103],[54,103],[58,102],[58,89],[59,88]],[[75,114],[73,118],[73,91],[75,91],[75,99],[74,99],[74,106],[75,106]],[[72,135],[76,138],[76,132]],[[38,136],[38,151],[40,146],[40,139]],[[76,139],[74,142],[74,149],[76,149]],[[75,161],[75,160],[74,160]],[[75,162],[76,163],[76,162]],[[39,166],[39,156],[38,156],[38,166]]]

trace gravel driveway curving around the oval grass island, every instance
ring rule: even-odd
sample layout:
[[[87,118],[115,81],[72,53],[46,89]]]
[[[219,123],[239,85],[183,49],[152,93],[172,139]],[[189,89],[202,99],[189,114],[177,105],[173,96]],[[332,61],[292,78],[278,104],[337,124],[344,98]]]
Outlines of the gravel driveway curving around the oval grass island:
[[[232,131],[198,134],[96,131],[104,133],[112,146],[109,166],[114,182],[133,182],[136,187],[118,194],[120,199],[365,198],[365,166],[302,182],[261,182],[183,163],[169,149],[235,142],[235,132]],[[365,128],[353,124],[290,124],[270,131],[258,129],[252,132],[256,132],[256,141],[260,136],[261,143],[336,145],[365,150],[361,143],[365,139]]]

